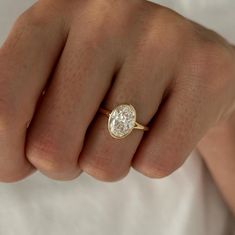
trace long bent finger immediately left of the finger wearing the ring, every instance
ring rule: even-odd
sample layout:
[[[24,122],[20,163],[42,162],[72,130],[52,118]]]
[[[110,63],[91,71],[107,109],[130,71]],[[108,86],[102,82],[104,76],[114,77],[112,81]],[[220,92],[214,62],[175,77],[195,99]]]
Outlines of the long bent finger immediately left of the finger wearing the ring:
[[[71,30],[29,132],[28,159],[57,180],[71,180],[80,174],[77,159],[86,130],[116,69],[113,45],[99,44],[101,38],[94,38],[92,28],[87,27],[86,33],[89,30],[87,37],[78,35],[79,26]]]

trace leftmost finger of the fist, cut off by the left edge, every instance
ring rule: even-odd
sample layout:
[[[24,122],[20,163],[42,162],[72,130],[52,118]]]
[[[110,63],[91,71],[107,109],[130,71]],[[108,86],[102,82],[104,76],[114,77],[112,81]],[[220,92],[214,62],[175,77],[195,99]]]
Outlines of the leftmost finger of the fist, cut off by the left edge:
[[[24,153],[26,128],[63,44],[60,25],[35,5],[19,17],[0,49],[0,181],[16,181],[33,170]]]

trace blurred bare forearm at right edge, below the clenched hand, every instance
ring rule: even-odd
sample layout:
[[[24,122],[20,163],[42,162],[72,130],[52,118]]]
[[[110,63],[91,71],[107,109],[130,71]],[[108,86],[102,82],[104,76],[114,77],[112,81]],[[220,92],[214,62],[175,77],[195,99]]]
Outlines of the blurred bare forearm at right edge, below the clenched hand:
[[[211,129],[198,149],[221,194],[235,212],[235,114]]]

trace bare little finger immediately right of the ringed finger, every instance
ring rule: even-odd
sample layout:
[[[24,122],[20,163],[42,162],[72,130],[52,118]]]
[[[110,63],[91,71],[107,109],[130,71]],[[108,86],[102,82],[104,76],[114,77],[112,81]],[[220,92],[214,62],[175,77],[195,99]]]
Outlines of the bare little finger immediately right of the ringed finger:
[[[193,83],[187,87],[181,84],[172,92],[135,154],[132,165],[136,170],[148,177],[162,178],[183,164],[206,132],[207,123],[212,123],[212,110],[206,110],[210,107],[206,102],[212,100],[202,94],[198,95]]]

